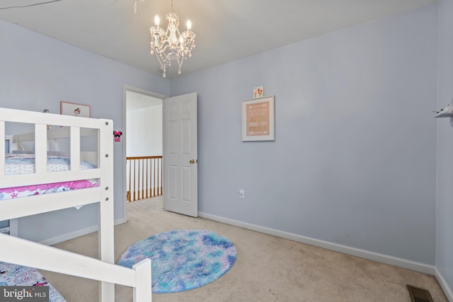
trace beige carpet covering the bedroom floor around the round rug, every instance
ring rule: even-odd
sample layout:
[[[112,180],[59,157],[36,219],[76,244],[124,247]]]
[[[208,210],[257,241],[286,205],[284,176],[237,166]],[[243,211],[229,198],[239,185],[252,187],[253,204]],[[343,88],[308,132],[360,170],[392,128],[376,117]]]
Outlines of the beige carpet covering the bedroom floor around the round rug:
[[[162,209],[161,198],[128,204],[128,222],[115,227],[115,257],[135,241],[178,228],[207,229],[229,238],[237,260],[224,276],[190,291],[153,294],[153,301],[389,301],[408,302],[406,284],[428,289],[447,302],[435,277]],[[55,245],[97,256],[97,233]],[[98,283],[43,271],[69,302],[98,301]],[[115,301],[132,301],[132,289],[116,286]]]

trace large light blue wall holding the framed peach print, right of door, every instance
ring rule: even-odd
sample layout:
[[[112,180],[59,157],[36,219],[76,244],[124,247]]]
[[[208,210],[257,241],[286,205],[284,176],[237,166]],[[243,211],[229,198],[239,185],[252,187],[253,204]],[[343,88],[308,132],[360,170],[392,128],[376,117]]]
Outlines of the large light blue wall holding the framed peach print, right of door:
[[[276,140],[241,142],[260,85]],[[434,265],[436,5],[171,82],[191,91],[199,211]]]

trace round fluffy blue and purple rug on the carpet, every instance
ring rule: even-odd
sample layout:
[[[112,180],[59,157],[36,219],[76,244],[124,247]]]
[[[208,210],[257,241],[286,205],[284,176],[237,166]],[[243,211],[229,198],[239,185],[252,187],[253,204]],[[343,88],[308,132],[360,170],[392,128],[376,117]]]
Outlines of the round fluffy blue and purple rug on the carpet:
[[[208,284],[236,261],[236,247],[206,230],[174,230],[137,241],[120,256],[118,265],[132,267],[149,258],[152,292],[176,293]]]

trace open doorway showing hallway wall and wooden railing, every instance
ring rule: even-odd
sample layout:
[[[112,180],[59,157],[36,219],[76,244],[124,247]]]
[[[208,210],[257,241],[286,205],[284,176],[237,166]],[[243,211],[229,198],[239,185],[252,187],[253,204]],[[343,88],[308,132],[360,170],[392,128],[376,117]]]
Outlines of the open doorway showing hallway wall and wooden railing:
[[[164,193],[163,100],[163,95],[124,88],[125,205]]]

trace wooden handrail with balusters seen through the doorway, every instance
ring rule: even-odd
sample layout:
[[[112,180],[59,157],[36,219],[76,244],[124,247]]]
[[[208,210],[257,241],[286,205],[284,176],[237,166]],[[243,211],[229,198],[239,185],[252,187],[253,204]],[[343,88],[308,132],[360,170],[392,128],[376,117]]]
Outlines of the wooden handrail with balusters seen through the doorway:
[[[162,156],[126,157],[127,202],[163,194]]]

